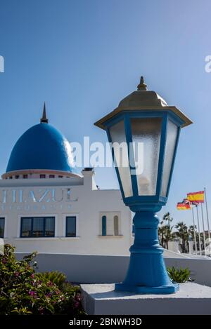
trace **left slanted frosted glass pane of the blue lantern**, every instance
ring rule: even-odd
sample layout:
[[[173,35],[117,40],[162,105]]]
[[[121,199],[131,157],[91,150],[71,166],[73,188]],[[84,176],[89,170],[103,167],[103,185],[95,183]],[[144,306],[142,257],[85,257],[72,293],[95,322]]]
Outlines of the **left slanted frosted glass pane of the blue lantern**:
[[[119,171],[124,197],[127,198],[132,196],[133,192],[123,120],[110,127],[110,137],[113,143],[115,166],[117,166]]]

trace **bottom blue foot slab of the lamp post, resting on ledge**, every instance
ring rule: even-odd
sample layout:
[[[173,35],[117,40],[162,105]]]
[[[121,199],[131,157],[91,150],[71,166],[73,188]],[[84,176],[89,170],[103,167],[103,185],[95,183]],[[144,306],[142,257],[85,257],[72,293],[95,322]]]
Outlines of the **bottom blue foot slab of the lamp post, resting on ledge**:
[[[127,291],[129,293],[136,293],[140,295],[168,295],[177,293],[179,291],[179,284],[175,283],[172,286],[160,286],[160,287],[146,287],[146,286],[129,286],[125,283],[115,283],[116,291]]]

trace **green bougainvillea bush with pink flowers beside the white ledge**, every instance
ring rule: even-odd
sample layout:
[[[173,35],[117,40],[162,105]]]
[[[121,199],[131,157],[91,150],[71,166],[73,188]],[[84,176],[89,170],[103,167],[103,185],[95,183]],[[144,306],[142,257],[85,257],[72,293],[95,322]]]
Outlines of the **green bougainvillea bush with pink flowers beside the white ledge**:
[[[58,272],[37,274],[36,253],[18,261],[14,250],[6,244],[0,255],[0,315],[84,314],[78,286]]]

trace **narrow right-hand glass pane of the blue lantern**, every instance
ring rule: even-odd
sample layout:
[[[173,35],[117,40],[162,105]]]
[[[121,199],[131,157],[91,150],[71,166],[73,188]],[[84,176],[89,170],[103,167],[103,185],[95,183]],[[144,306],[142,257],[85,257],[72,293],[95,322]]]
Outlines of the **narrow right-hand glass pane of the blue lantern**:
[[[174,150],[177,143],[177,133],[178,127],[172,121],[167,123],[167,137],[165,145],[165,158],[163,163],[162,172],[162,185],[161,185],[161,195],[167,195],[167,188],[170,180],[170,174],[172,170],[172,162],[174,158]]]

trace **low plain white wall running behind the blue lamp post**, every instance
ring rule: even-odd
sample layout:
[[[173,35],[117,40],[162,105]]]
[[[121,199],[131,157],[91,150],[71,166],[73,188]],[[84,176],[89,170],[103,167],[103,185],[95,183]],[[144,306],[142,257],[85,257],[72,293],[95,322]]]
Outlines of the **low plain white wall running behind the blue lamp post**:
[[[18,259],[23,254],[17,254]],[[127,272],[128,256],[114,255],[37,255],[38,271],[62,271],[68,280],[77,283],[115,283],[121,282]],[[167,267],[191,270],[194,282],[211,286],[211,259],[165,257]]]

